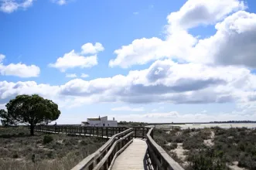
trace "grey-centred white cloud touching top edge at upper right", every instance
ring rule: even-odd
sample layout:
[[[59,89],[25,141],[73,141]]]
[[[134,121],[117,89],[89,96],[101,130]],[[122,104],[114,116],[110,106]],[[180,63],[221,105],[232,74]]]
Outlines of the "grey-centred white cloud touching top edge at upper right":
[[[231,12],[243,10],[244,2],[240,0],[189,0],[178,12],[167,16],[169,25],[179,29],[189,29],[198,25],[213,24]]]

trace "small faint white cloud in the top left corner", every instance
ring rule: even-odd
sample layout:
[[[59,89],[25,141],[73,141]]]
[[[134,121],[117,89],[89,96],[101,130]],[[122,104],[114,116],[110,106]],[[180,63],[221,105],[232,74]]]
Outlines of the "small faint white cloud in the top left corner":
[[[2,0],[0,1],[0,11],[5,13],[12,13],[19,8],[26,9],[32,5],[34,0]]]

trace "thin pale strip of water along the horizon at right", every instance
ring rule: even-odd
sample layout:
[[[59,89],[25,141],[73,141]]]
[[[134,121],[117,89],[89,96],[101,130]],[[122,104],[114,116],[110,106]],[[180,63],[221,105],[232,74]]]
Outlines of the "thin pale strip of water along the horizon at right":
[[[210,127],[220,127],[220,128],[256,128],[256,124],[162,124],[157,125],[157,127],[169,127],[169,126],[179,126],[183,129],[186,128],[210,128]]]

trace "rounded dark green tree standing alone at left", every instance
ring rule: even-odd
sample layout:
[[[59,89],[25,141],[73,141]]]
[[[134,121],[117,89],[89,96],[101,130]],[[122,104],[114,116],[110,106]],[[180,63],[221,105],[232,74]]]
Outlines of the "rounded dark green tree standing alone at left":
[[[49,124],[60,116],[57,104],[37,94],[19,95],[5,106],[7,111],[0,110],[2,124],[28,124],[31,135],[36,124]]]

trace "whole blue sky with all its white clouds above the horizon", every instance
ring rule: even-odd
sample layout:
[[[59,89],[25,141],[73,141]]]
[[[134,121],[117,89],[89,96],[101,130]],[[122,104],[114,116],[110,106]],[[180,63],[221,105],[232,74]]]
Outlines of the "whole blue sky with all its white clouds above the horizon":
[[[256,120],[254,0],[0,0],[0,107],[58,124]]]

